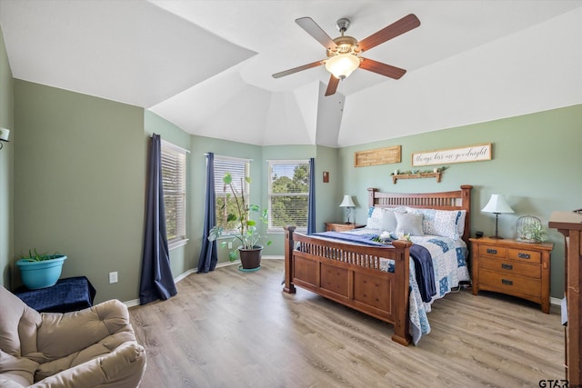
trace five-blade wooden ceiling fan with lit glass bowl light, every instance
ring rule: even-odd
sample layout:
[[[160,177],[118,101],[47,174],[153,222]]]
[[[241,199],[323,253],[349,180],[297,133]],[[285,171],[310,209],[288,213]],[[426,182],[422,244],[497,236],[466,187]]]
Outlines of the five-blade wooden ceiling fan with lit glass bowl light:
[[[318,65],[325,65],[326,70],[331,73],[329,83],[327,84],[326,95],[333,95],[336,93],[339,81],[352,74],[352,72],[358,67],[394,79],[399,79],[402,75],[405,75],[405,69],[376,62],[359,55],[372,47],[376,47],[376,45],[380,45],[387,40],[416,28],[420,25],[420,20],[418,20],[414,14],[406,15],[402,19],[397,20],[391,25],[387,25],[380,31],[377,31],[375,34],[372,34],[359,42],[351,36],[344,35],[350,24],[349,19],[346,18],[337,21],[336,26],[341,33],[341,36],[338,36],[335,39],[332,39],[327,35],[311,17],[300,17],[296,19],[296,24],[306,30],[306,33],[313,36],[317,42],[326,47],[327,59],[294,67],[284,72],[276,73],[273,77],[280,78]]]

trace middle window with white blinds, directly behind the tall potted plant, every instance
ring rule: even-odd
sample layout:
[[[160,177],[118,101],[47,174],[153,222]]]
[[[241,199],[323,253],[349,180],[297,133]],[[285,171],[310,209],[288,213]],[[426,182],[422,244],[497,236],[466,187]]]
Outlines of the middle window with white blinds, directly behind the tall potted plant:
[[[249,170],[250,161],[248,159],[215,156],[216,224],[222,226],[226,233],[236,232],[236,221],[226,222],[227,214],[236,214],[232,210],[236,206],[236,202],[232,195],[226,195],[230,193],[230,190],[225,189],[222,178],[226,173],[230,173],[233,177],[233,185],[236,191],[245,196],[246,204],[248,204],[249,186],[245,177],[249,176]],[[229,211],[229,209],[231,210]]]

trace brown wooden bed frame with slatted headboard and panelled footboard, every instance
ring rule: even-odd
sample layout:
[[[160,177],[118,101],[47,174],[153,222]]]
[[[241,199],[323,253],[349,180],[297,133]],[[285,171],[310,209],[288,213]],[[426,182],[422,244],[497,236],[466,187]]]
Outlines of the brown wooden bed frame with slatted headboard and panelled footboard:
[[[470,236],[471,185],[445,193],[389,194],[369,188],[368,204],[376,207],[409,206],[440,210],[466,210],[465,233]],[[285,293],[296,286],[337,303],[394,324],[392,340],[407,345],[408,333],[408,241],[365,246],[330,241],[285,228]],[[394,273],[380,270],[381,259],[395,262]]]

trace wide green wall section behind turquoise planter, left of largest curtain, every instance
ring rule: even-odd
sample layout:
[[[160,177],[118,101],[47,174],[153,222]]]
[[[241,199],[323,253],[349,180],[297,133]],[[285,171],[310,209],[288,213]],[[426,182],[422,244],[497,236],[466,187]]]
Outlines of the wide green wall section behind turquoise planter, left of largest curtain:
[[[144,110],[15,80],[15,127],[15,253],[66,254],[62,276],[87,276],[95,302],[137,298]]]

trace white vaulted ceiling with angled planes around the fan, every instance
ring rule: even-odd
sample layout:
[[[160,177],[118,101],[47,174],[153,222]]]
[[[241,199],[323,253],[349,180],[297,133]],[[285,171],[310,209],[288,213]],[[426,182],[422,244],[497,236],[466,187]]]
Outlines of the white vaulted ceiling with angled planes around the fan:
[[[295,23],[361,40],[408,14],[421,25],[366,52],[325,97],[326,58]],[[582,0],[0,0],[15,78],[143,106],[190,134],[346,146],[582,103]]]

